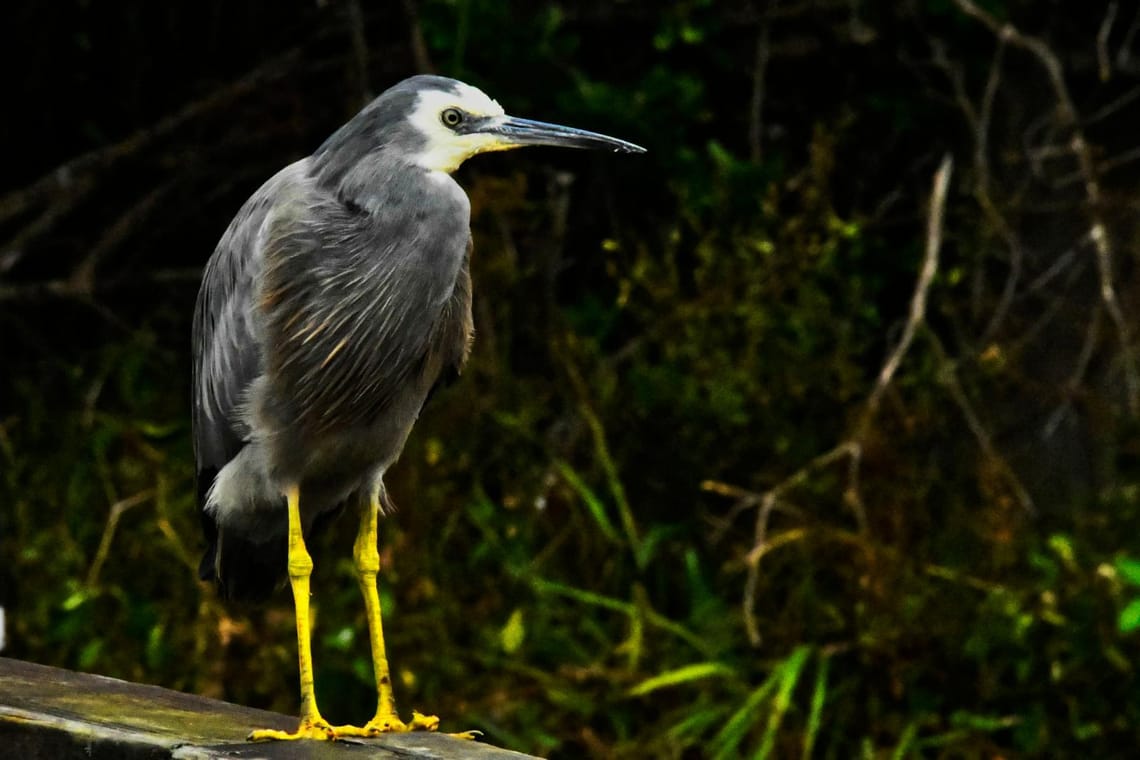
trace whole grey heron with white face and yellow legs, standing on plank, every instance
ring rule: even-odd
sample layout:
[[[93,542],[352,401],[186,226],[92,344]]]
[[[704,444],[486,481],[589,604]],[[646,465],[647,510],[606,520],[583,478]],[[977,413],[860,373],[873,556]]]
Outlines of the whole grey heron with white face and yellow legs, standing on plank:
[[[432,387],[467,358],[471,206],[466,158],[530,145],[644,149],[515,119],[442,76],[396,84],[316,153],[246,201],[206,264],[194,316],[194,451],[209,549],[202,577],[230,599],[293,589],[301,722],[251,738],[433,730],[396,713],[376,573],[384,473]],[[376,678],[376,716],[333,727],[317,710],[306,539],[359,517],[353,548]]]

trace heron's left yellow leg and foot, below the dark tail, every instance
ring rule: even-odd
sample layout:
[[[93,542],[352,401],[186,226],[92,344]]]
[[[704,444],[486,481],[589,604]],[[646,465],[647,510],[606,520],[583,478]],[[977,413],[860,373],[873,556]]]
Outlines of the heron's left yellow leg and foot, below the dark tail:
[[[312,649],[309,644],[309,575],[312,573],[312,557],[304,548],[301,532],[300,489],[293,485],[286,491],[288,500],[288,580],[293,587],[293,607],[296,612],[296,657],[301,671],[301,724],[296,732],[274,729],[255,730],[250,739],[333,739],[336,734],[328,721],[317,710],[317,697],[312,692]]]

